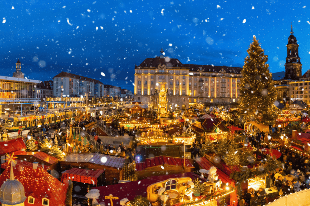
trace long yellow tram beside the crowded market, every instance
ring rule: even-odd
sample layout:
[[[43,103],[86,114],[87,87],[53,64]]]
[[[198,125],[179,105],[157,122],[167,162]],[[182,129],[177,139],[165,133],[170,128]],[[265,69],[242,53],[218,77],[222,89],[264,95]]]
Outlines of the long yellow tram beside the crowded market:
[[[75,112],[60,112],[56,114],[37,115],[29,117],[14,117],[7,120],[7,131],[18,131],[19,129],[25,129],[45,124],[55,124],[57,122],[63,122],[65,119],[74,119]]]

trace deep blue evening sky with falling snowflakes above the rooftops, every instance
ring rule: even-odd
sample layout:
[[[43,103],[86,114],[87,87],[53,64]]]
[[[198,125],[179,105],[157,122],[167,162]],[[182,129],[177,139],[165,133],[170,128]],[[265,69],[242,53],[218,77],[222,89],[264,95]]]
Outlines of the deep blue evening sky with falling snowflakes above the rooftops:
[[[1,75],[11,76],[20,58],[30,79],[67,71],[132,90],[135,64],[161,48],[182,63],[242,67],[253,35],[271,71],[284,71],[290,22],[304,73],[309,9],[307,0],[1,0]]]

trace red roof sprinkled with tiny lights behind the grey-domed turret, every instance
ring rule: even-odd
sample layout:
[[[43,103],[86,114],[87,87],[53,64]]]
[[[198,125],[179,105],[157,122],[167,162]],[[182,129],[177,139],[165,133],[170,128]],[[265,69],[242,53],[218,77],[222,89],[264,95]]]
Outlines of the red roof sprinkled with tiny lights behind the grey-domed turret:
[[[38,167],[16,165],[13,167],[14,177],[22,183],[25,189],[25,196],[31,195],[35,198],[34,205],[42,205],[42,198],[49,199],[49,205],[65,206],[68,184],[61,183],[47,171]],[[0,187],[10,178],[10,168],[8,167],[0,175]]]

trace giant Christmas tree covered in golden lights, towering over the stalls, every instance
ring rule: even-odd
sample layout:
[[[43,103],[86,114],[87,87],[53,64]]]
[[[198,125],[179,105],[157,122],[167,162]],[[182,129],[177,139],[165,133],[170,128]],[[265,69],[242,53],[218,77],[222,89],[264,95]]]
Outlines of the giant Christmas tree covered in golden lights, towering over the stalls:
[[[256,36],[247,50],[240,85],[239,109],[244,121],[270,125],[277,117],[274,101],[276,92],[269,71],[268,56],[259,45]]]

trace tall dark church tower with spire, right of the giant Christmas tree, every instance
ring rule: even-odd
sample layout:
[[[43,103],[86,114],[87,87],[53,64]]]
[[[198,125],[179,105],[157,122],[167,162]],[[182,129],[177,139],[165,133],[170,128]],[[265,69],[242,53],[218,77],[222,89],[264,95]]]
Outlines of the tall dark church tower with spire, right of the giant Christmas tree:
[[[285,79],[299,80],[301,77],[300,57],[298,56],[298,47],[296,37],[293,35],[293,27],[291,25],[291,35],[288,38],[287,57],[285,62]]]

